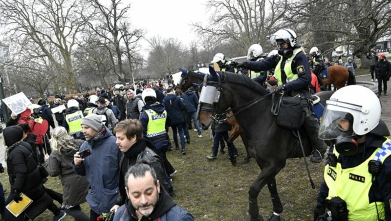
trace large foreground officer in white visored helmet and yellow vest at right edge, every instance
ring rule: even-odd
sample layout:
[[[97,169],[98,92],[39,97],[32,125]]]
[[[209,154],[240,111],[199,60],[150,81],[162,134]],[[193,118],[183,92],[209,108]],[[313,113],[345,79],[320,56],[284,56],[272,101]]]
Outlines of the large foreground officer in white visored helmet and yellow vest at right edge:
[[[326,102],[319,137],[331,142],[315,220],[391,220],[391,140],[381,104],[352,85]],[[325,213],[326,208],[328,212]]]

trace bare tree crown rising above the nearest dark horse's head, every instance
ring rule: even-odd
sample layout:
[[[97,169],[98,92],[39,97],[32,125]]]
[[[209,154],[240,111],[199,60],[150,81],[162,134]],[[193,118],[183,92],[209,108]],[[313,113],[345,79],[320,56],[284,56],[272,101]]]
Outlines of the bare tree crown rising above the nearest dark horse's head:
[[[251,44],[266,45],[286,4],[287,0],[209,0],[212,25],[193,26],[200,35],[212,35],[215,42],[228,42],[243,53]]]

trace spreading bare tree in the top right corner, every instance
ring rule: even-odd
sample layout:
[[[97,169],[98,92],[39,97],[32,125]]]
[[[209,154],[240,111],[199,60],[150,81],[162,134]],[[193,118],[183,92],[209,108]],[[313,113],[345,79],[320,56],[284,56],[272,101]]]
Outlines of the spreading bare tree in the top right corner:
[[[329,52],[354,45],[353,53],[368,68],[366,54],[391,31],[391,0],[299,0],[288,6],[284,20],[310,33],[313,44]]]

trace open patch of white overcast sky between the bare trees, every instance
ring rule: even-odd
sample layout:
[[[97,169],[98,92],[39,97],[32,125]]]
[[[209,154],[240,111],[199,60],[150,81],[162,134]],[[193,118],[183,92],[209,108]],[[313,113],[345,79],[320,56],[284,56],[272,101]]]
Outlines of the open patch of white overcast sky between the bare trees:
[[[146,38],[177,38],[186,46],[195,40],[192,22],[206,23],[207,0],[132,0],[129,17],[134,27],[147,31]],[[126,1],[124,1],[126,2]],[[144,49],[148,44],[142,44]],[[144,53],[143,53],[144,54]]]

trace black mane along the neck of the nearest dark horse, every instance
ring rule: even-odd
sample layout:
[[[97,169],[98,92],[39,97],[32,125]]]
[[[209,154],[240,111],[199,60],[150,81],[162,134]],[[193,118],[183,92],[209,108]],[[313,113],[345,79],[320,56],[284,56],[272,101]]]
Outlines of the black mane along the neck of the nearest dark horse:
[[[230,82],[230,83],[242,85],[261,95],[268,93],[266,88],[263,88],[260,84],[253,81],[251,78],[245,75],[231,73],[231,72],[224,72],[222,74],[222,77],[224,79],[223,82]]]

